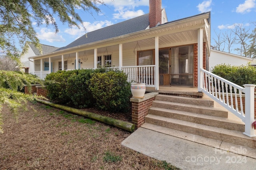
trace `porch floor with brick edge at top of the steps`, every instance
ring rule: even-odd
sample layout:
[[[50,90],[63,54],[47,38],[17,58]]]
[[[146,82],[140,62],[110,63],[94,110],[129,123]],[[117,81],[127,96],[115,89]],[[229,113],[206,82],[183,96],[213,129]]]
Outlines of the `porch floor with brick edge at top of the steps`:
[[[155,90],[154,87],[146,87],[146,92],[158,92],[160,94],[168,94],[174,96],[193,96],[196,98],[202,98],[203,93],[198,92],[197,87],[175,87],[175,86],[159,86],[159,90]]]

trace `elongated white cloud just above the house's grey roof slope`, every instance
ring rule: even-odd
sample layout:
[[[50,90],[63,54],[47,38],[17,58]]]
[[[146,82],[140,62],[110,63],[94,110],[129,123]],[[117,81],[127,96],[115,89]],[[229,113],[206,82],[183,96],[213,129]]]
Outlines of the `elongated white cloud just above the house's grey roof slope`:
[[[112,25],[113,23],[111,21],[95,21],[93,23],[90,22],[83,22],[84,27],[86,28],[86,32],[91,32],[109,25]],[[80,29],[78,27],[72,27],[72,28],[68,28],[65,29],[64,31],[65,33],[68,33],[72,36],[82,36],[85,34],[83,26],[80,25]]]

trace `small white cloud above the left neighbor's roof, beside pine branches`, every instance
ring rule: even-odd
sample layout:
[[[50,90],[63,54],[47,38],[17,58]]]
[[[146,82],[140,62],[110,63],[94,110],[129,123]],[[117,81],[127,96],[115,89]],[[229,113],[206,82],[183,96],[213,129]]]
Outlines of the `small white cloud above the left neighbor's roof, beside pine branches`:
[[[55,32],[50,31],[50,29],[47,29],[47,28],[41,28],[40,33],[37,33],[37,37],[40,40],[46,40],[46,41],[49,41],[50,43],[66,41],[62,37],[62,35],[58,35]]]

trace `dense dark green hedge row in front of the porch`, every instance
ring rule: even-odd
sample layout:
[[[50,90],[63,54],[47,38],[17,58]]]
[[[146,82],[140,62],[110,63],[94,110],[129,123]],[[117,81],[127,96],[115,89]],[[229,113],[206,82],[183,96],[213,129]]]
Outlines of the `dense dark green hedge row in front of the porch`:
[[[59,104],[128,111],[131,97],[127,75],[115,68],[63,70],[45,78],[48,97]]]

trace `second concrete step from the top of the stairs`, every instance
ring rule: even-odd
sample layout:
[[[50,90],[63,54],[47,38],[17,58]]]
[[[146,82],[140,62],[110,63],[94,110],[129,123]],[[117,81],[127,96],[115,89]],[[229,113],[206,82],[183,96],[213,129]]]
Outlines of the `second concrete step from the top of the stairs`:
[[[155,100],[153,102],[153,107],[180,110],[180,111],[186,111],[186,112],[198,113],[198,114],[204,114],[204,115],[211,115],[211,116],[218,116],[218,117],[226,117],[226,118],[228,117],[227,111],[218,110],[214,107],[196,106],[196,105],[192,105],[192,104],[180,104],[180,103],[174,103],[174,102]]]

